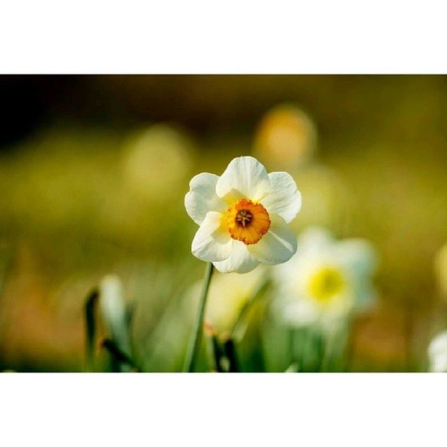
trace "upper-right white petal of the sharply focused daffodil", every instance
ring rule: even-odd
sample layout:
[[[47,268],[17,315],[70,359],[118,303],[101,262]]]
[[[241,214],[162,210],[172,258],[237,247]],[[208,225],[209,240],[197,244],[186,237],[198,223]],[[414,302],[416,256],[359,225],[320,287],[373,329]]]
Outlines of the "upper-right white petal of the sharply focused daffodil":
[[[269,213],[279,214],[289,223],[301,209],[301,193],[288,173],[270,173],[268,177],[270,189],[261,203]]]

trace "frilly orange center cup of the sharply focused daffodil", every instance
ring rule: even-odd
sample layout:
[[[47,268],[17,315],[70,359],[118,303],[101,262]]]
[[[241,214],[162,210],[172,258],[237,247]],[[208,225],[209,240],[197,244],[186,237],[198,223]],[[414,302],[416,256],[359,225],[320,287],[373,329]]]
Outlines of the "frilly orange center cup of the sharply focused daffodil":
[[[226,211],[225,225],[233,239],[256,244],[268,232],[270,217],[261,203],[241,198]]]

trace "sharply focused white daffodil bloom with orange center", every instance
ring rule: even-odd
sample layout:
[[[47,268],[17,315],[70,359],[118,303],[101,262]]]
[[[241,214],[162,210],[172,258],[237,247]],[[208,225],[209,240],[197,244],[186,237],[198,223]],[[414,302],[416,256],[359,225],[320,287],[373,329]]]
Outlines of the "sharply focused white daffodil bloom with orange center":
[[[189,188],[186,212],[200,225],[191,247],[196,258],[219,272],[247,273],[295,254],[288,223],[300,211],[301,194],[291,175],[268,174],[258,160],[241,156],[220,177],[196,175]]]

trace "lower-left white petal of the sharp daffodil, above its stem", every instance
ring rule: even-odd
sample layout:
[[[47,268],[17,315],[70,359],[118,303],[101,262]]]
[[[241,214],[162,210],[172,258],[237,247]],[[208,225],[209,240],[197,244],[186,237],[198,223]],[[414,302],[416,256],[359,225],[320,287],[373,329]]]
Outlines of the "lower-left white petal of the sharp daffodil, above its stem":
[[[222,214],[210,211],[194,236],[191,251],[201,261],[223,261],[231,254],[231,239],[222,223]]]

